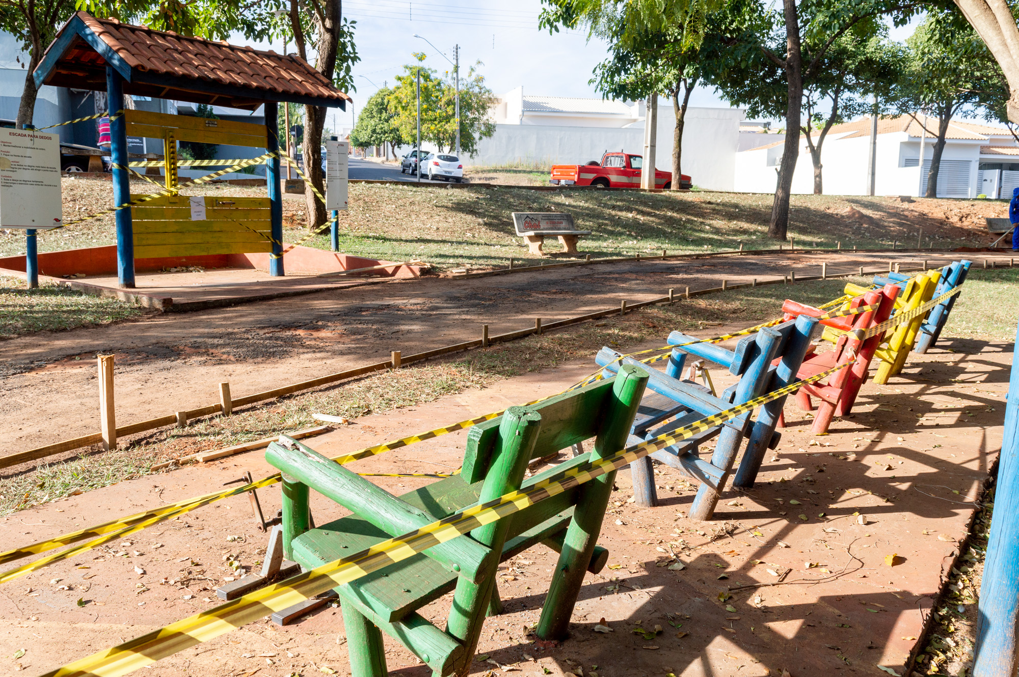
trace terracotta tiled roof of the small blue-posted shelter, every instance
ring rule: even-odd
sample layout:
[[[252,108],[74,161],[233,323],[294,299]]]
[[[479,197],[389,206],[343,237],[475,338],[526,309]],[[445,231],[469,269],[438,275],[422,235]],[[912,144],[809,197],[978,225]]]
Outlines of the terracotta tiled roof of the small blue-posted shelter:
[[[132,70],[202,80],[206,87],[222,84],[261,91],[263,94],[257,96],[258,99],[285,101],[290,96],[351,101],[322,73],[294,55],[283,56],[271,50],[263,52],[222,41],[186,38],[172,31],[154,31],[116,19],[99,19],[84,11],[73,18],[81,19]],[[67,30],[68,24],[65,24],[60,33]],[[77,54],[76,58],[81,56]]]

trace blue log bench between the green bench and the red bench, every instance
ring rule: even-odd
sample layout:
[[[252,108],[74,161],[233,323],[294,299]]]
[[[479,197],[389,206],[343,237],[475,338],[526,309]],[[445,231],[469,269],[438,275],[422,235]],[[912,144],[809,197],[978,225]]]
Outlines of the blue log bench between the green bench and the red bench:
[[[741,338],[736,348],[727,348],[710,343],[694,343],[682,348],[674,348],[665,366],[665,373],[650,371],[648,394],[641,402],[631,431],[631,441],[650,440],[672,432],[698,418],[717,413],[734,404],[764,394],[795,380],[795,375],[810,345],[810,337],[817,324],[814,318],[803,317],[777,327],[764,328],[755,334]],[[696,339],[680,332],[668,337],[669,345],[689,343]],[[712,397],[706,389],[697,384],[681,381],[687,354],[703,357],[728,368],[739,376],[740,381],[728,388],[721,397]],[[595,360],[606,372],[618,369],[620,354],[609,348],[602,348]],[[624,364],[636,364],[627,357]],[[748,414],[732,421],[713,426],[684,442],[672,445],[650,455],[671,467],[675,467],[701,483],[697,498],[690,509],[694,519],[710,519],[718,502],[718,495],[732,472],[744,437],[749,436],[750,448],[763,456],[764,449],[774,448],[781,434],[775,432],[782,413],[785,397],[763,408],[756,420]],[[668,421],[663,424],[663,421]],[[663,424],[663,425],[660,425]],[[702,459],[698,448],[714,439],[711,460]],[[759,461],[758,461],[759,465]],[[650,458],[643,458],[631,464],[635,503],[644,507],[657,504],[654,475]],[[752,484],[752,478],[750,479]]]

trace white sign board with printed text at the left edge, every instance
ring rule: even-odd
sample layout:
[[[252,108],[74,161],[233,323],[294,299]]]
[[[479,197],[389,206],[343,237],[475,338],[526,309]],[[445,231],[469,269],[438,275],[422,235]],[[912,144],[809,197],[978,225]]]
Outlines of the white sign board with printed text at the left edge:
[[[0,129],[0,227],[57,228],[60,137],[32,129]]]

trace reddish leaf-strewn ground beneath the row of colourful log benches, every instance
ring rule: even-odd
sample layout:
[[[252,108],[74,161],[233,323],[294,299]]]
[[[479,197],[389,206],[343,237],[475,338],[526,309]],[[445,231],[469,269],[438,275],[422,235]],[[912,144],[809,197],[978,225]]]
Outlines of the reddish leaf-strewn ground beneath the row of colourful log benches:
[[[631,291],[620,285],[618,293]],[[476,286],[474,292],[496,290]],[[958,542],[1001,446],[1011,347],[943,338],[928,354],[911,355],[888,385],[865,384],[853,414],[837,419],[827,436],[811,436],[809,414],[787,403],[790,428],[765,457],[757,487],[727,490],[711,522],[686,516],[695,482],[657,466],[662,504],[641,509],[628,502],[629,470],[622,471],[599,539],[609,550],[608,566],[587,575],[572,636],[539,644],[530,634],[555,563],[554,553],[536,546],[500,567],[505,613],[485,621],[471,674],[573,677],[578,668],[599,677],[887,674],[877,666],[905,674],[942,578],[959,565]],[[550,395],[589,373],[591,361],[587,356],[398,415],[364,416],[309,444],[339,454]],[[128,374],[142,379],[155,373]],[[718,388],[733,380],[720,369],[712,376]],[[461,463],[465,436],[461,431],[429,440],[351,469],[448,471]],[[0,533],[11,547],[26,545],[217,491],[246,469],[256,477],[273,471],[261,451],[185,466],[0,518]],[[431,482],[371,479],[397,495]],[[260,497],[269,514],[279,507],[278,486],[260,490]],[[312,510],[319,524],[345,514],[314,493]],[[257,569],[265,545],[248,500],[234,497],[8,582],[0,586],[0,656],[26,651],[0,659],[7,668],[0,674],[40,674],[209,609],[216,604],[214,589],[235,575],[227,559],[239,561],[243,570]],[[884,563],[892,554],[901,558],[894,567]],[[676,560],[685,568],[667,568]],[[721,602],[726,593],[732,597]],[[422,614],[442,627],[449,604],[446,596]],[[594,631],[602,619],[612,632]],[[652,636],[636,634],[638,627]],[[661,632],[654,634],[656,627]],[[286,628],[252,623],[146,674],[348,675],[345,642],[339,610],[326,608]],[[391,674],[428,677],[395,641],[386,639],[386,647]]]

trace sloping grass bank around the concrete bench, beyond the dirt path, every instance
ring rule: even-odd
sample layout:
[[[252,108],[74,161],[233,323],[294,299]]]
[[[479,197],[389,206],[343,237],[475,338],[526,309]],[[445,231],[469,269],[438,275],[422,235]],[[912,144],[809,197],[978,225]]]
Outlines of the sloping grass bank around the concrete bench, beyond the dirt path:
[[[530,169],[500,170],[519,175]],[[108,207],[111,186],[101,179],[63,179],[64,214],[89,214]],[[131,189],[148,192],[142,182]],[[186,194],[264,195],[264,188],[209,184]],[[1005,214],[1000,201],[921,200],[902,204],[890,198],[794,195],[789,234],[798,246],[844,248],[976,245],[989,240],[982,217]],[[706,252],[738,247],[773,248],[766,236],[771,195],[733,192],[603,190],[536,191],[523,187],[414,187],[406,184],[352,183],[350,211],[340,213],[340,249],[374,259],[431,263],[438,270],[504,267],[509,259],[537,263],[514,234],[513,212],[567,212],[592,234],[580,249],[594,258],[636,253]],[[284,200],[284,237],[307,234],[302,195]],[[0,231],[2,233],[2,231]],[[40,234],[40,251],[113,244],[112,217]],[[328,233],[305,243],[329,248]],[[0,234],[0,255],[23,252],[23,233]],[[555,253],[557,242],[547,242]]]

